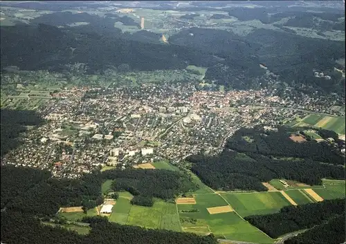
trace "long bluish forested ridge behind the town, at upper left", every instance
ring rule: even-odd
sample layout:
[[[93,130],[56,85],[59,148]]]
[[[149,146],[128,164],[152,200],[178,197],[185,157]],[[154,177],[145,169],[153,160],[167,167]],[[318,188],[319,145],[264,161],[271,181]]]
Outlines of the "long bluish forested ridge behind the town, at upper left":
[[[98,73],[107,65],[127,64],[132,71],[153,71],[217,63],[217,57],[201,50],[148,42],[149,35],[143,37],[144,41],[134,41],[126,39],[126,33],[98,34],[81,28],[62,30],[46,24],[1,26],[1,68],[15,65],[21,70],[62,71],[65,64],[77,62],[86,64],[87,72]],[[71,48],[75,50],[72,52]]]

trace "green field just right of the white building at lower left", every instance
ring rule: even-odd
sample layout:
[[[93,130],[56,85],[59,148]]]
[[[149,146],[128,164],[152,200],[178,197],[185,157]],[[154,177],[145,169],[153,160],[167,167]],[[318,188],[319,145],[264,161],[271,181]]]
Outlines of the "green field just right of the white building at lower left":
[[[171,229],[181,231],[179,215],[174,203],[155,200],[153,207],[131,205],[132,196],[128,192],[120,192],[109,220],[122,225],[138,225],[154,229]]]

